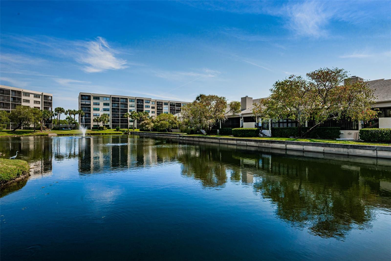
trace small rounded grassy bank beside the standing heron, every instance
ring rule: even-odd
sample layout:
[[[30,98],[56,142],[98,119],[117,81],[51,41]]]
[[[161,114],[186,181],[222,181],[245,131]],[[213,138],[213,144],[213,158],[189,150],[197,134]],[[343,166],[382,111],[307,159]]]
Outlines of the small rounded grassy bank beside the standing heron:
[[[30,173],[27,161],[21,159],[0,159],[0,183],[4,183],[18,176]]]

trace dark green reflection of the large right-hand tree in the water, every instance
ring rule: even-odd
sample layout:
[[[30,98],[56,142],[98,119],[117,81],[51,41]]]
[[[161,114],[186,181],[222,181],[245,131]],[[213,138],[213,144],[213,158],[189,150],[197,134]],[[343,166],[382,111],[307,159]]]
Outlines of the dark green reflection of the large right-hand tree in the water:
[[[322,237],[344,237],[373,219],[372,207],[379,199],[360,178],[361,168],[288,157],[272,157],[270,165],[254,188],[293,226],[309,227]]]

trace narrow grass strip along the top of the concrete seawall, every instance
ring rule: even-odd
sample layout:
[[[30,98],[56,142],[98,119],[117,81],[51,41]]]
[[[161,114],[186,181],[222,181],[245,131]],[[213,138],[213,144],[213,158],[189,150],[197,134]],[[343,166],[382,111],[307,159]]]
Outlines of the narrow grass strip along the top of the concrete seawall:
[[[307,141],[307,142],[355,144],[355,145],[391,146],[391,143],[365,142],[365,141],[353,141],[353,140],[322,140],[322,139],[278,138],[278,137],[247,137],[247,138],[245,138],[245,137],[232,137],[232,136],[228,136],[228,135],[202,135],[202,134],[192,134],[192,135],[189,135],[189,136],[243,138],[243,139],[255,139],[255,140],[288,140],[288,141]]]

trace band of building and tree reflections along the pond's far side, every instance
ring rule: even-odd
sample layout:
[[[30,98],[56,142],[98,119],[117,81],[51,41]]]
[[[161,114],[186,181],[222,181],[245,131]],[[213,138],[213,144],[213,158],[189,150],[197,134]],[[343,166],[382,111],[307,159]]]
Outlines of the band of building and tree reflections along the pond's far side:
[[[20,150],[20,158],[34,165],[32,178],[50,174],[52,160],[77,160],[80,175],[179,163],[183,178],[194,179],[205,189],[224,189],[228,183],[252,187],[271,202],[277,217],[321,237],[344,238],[352,229],[371,227],[376,209],[391,209],[387,160],[303,157],[302,152],[274,154],[267,149],[138,136],[2,138],[0,148]],[[25,184],[3,189],[2,196]]]

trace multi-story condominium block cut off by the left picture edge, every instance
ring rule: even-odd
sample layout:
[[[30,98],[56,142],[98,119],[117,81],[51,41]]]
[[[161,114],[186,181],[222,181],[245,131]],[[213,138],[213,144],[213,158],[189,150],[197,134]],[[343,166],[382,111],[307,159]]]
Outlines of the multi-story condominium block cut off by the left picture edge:
[[[10,112],[19,105],[52,111],[53,94],[0,85],[0,110]],[[47,121],[45,125],[51,129],[52,119]],[[10,127],[12,126],[13,123]]]

